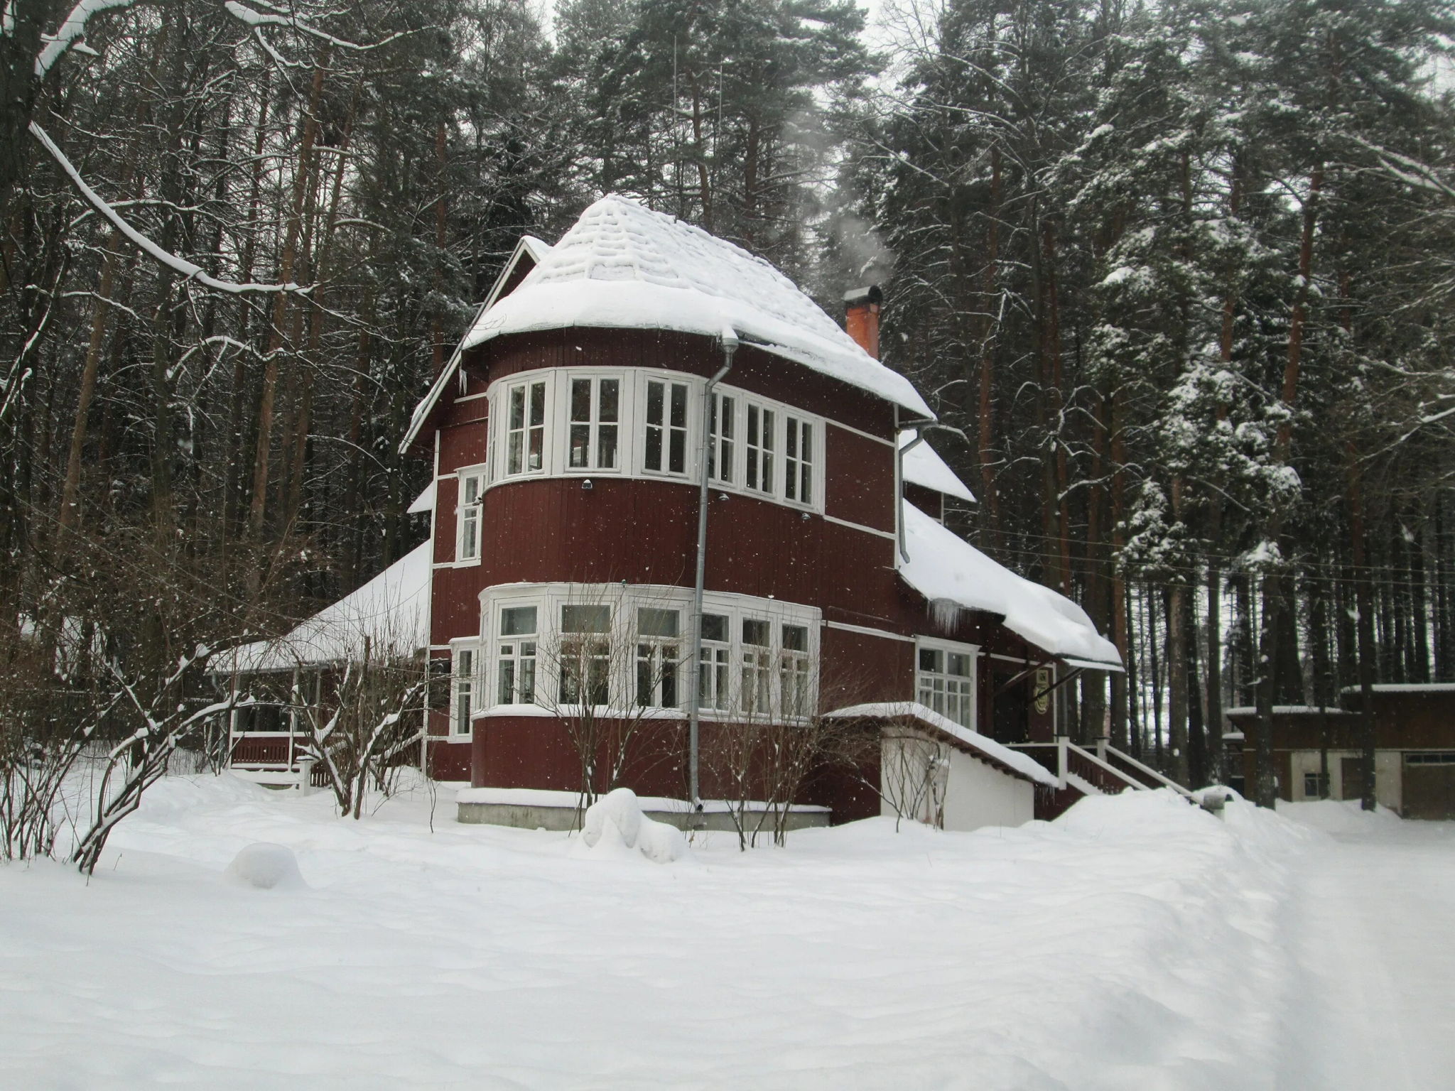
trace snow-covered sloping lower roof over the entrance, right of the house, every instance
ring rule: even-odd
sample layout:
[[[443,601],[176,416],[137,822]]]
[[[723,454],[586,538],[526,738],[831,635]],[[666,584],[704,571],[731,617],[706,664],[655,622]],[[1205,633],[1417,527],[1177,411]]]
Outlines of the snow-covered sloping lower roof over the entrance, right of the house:
[[[901,506],[909,560],[899,575],[931,604],[1001,614],[1011,633],[1075,666],[1120,669],[1116,644],[1075,602],[997,564],[912,503]]]

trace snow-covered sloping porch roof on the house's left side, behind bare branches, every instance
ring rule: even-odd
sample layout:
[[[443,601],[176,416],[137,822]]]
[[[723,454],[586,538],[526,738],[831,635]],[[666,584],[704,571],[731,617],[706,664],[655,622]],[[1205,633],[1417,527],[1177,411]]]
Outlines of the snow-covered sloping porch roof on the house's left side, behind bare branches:
[[[370,637],[371,655],[418,652],[429,642],[431,548],[432,543],[423,543],[276,640],[243,644],[224,669],[340,663],[362,653],[364,637]]]

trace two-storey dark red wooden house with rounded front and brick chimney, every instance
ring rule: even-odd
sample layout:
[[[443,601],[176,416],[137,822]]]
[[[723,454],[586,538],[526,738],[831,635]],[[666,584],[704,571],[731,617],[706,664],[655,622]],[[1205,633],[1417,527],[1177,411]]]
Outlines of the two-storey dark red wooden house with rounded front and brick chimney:
[[[620,196],[554,246],[521,240],[403,439],[434,461],[436,777],[575,791],[566,722],[589,706],[650,720],[621,781],[710,797],[694,755],[735,723],[908,704],[956,761],[1021,781],[1017,806],[1036,783],[1145,783],[1104,746],[1068,764],[1058,682],[1120,669],[1116,649],[941,525],[969,490],[876,359],[877,291],[847,304],[857,339],[768,263]],[[1053,777],[997,764],[1004,745]],[[834,820],[880,807],[848,780],[805,794]]]

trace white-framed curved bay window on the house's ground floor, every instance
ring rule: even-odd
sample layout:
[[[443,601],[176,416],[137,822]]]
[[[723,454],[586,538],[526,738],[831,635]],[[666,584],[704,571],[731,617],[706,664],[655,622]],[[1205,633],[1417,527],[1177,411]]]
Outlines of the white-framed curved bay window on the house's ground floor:
[[[482,607],[482,676],[496,679],[489,697],[501,711],[685,711],[694,681],[703,713],[714,719],[813,710],[819,612],[810,607],[709,592],[698,672],[688,662],[687,588],[509,585],[487,589]]]

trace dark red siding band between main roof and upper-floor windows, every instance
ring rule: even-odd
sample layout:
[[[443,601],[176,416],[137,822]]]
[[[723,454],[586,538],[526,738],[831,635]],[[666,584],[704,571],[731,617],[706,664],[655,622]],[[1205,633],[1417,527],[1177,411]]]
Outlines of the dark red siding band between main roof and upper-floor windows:
[[[495,381],[519,371],[562,367],[661,368],[710,378],[722,362],[722,349],[711,337],[576,327],[499,337],[471,349],[464,365],[474,384],[482,375]],[[895,435],[893,407],[888,401],[752,345],[738,349],[723,381],[885,439]],[[471,393],[477,388],[470,387]],[[441,415],[441,409],[435,413]]]

